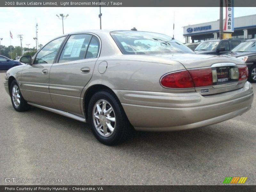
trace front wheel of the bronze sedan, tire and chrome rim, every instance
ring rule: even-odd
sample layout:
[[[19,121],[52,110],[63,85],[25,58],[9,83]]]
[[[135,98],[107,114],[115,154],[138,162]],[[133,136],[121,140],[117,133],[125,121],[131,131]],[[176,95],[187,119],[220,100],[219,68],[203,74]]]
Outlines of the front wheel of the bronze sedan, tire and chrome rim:
[[[11,93],[12,106],[16,111],[21,112],[21,111],[27,111],[28,109],[30,109],[30,105],[28,105],[27,101],[23,99],[20,92],[20,88],[15,80],[12,81],[12,84],[10,87],[10,93]]]

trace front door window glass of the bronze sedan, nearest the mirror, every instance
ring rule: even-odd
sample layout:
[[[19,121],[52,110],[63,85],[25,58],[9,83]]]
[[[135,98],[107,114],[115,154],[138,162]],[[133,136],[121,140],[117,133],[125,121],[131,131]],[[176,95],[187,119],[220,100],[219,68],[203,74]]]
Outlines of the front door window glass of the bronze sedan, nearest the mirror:
[[[37,53],[34,64],[53,63],[56,54],[66,37],[60,37],[45,45],[40,52]]]

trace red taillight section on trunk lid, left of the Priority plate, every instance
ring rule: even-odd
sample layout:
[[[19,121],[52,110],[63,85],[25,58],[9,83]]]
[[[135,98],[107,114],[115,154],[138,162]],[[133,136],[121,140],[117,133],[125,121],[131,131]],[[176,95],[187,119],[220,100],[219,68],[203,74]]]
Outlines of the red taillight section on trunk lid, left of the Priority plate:
[[[188,70],[196,87],[212,85],[212,68]]]

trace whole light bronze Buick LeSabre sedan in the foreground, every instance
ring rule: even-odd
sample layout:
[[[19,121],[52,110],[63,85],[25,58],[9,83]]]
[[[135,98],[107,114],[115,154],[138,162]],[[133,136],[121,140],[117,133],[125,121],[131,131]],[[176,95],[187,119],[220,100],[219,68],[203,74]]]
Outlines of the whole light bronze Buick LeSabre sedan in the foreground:
[[[243,60],[195,54],[151,32],[63,35],[21,62],[27,65],[4,80],[16,111],[32,105],[88,122],[107,145],[126,139],[132,126],[172,131],[219,123],[248,111],[253,100]]]

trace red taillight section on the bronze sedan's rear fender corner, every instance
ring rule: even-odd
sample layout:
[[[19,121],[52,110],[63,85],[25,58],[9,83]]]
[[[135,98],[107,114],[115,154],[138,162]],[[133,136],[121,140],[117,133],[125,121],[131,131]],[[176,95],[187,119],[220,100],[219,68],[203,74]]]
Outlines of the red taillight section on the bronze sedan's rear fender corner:
[[[192,88],[195,87],[187,70],[173,72],[163,76],[161,85],[167,88]]]

